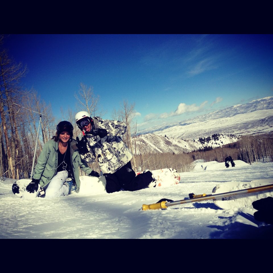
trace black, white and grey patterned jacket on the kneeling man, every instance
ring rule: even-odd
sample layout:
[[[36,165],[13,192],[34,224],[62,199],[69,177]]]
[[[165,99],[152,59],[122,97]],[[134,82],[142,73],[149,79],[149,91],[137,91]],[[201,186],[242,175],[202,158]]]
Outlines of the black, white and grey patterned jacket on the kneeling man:
[[[98,156],[98,162],[102,173],[115,173],[132,159],[132,153],[123,142],[121,136],[126,132],[127,126],[124,122],[100,117],[93,117],[95,128],[106,129],[104,138],[86,133],[86,154],[80,155],[87,163],[92,163]]]

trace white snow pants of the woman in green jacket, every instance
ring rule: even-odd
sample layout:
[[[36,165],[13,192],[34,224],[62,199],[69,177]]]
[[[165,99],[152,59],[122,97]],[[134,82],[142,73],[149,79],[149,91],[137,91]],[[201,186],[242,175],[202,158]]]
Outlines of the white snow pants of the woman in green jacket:
[[[69,186],[65,183],[65,180],[68,178],[67,171],[59,171],[51,179],[49,185],[46,188],[45,198],[56,198],[60,196],[68,195]],[[65,183],[65,184],[63,184]]]

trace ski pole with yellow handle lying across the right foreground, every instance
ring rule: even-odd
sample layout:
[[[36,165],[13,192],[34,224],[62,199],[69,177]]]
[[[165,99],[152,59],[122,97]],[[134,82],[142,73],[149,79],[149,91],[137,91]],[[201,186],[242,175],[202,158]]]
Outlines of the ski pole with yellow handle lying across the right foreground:
[[[198,195],[197,197],[191,198],[191,199],[183,199],[183,200],[178,200],[178,201],[162,201],[162,202],[158,202],[155,204],[150,204],[150,205],[142,205],[142,210],[158,210],[158,209],[162,209],[162,208],[167,208],[169,206],[175,206],[175,205],[179,205],[179,204],[186,204],[186,203],[194,203],[194,202],[200,202],[200,201],[205,201],[205,200],[216,200],[216,199],[220,199],[220,198],[225,198],[225,197],[231,197],[234,195],[241,195],[241,194],[247,194],[247,193],[254,193],[254,192],[258,192],[258,191],[270,191],[273,189],[273,184],[270,185],[265,185],[265,186],[259,186],[259,187],[254,187],[254,188],[250,188],[250,189],[243,189],[243,190],[238,190],[238,191],[230,191],[227,193],[218,193],[218,194],[210,194],[210,195],[206,195],[206,194],[202,194],[202,195]]]

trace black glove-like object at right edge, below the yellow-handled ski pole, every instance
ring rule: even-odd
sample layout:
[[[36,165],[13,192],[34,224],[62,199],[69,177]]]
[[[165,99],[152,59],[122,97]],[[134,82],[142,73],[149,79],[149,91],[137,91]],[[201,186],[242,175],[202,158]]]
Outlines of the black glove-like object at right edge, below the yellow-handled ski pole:
[[[267,197],[252,203],[253,208],[258,210],[254,212],[254,218],[257,221],[273,224],[273,198]]]

